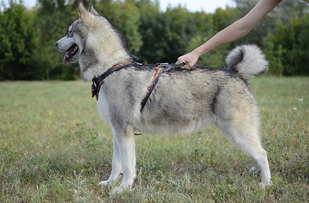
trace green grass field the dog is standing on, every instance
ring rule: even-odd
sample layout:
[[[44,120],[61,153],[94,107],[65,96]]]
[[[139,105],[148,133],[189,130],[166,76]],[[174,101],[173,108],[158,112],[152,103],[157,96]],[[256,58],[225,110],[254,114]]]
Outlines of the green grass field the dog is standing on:
[[[136,137],[132,191],[110,195],[111,129],[91,83],[0,83],[0,202],[309,202],[309,78],[251,81],[273,186],[212,126]]]

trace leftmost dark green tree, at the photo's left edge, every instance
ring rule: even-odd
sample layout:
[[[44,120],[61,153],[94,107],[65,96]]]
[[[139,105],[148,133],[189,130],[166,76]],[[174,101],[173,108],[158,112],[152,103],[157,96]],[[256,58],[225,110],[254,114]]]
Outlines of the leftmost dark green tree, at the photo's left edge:
[[[27,80],[41,77],[36,63],[38,34],[35,10],[27,10],[22,1],[10,1],[0,13],[0,80]]]

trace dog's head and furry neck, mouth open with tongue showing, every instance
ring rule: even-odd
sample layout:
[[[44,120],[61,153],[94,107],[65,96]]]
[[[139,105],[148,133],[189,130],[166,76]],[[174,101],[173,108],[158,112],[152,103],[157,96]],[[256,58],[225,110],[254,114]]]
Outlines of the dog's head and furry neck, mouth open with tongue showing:
[[[65,66],[79,60],[82,79],[91,81],[113,65],[133,60],[122,35],[92,4],[86,10],[78,3],[78,13],[80,18],[69,27],[67,36],[56,42],[59,51],[65,52]]]

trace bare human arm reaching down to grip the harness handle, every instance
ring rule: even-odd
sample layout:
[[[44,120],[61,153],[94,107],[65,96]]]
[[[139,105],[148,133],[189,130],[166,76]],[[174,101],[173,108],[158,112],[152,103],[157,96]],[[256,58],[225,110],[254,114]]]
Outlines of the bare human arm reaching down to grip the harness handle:
[[[176,64],[185,63],[185,68],[192,68],[196,64],[198,57],[204,53],[247,35],[281,1],[261,0],[246,16],[229,25],[229,27],[222,29],[222,31],[210,38],[205,44],[198,46],[194,51],[179,57]]]

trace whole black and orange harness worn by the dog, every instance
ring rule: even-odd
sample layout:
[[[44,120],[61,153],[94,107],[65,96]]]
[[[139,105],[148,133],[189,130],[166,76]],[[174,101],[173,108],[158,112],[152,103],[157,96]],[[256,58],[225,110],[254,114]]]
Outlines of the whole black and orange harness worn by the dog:
[[[126,68],[128,66],[137,66],[137,67],[141,67],[141,66],[147,66],[150,68],[153,68],[156,70],[156,73],[150,83],[150,85],[147,88],[146,91],[146,96],[144,96],[143,100],[141,100],[141,109],[140,111],[143,111],[148,98],[150,97],[150,94],[152,93],[152,91],[155,89],[155,85],[157,85],[159,78],[161,77],[161,75],[164,72],[169,72],[170,70],[172,70],[172,68],[183,68],[183,66],[185,66],[185,64],[168,64],[168,63],[158,63],[158,64],[139,64],[137,62],[124,62],[124,63],[120,63],[120,64],[116,64],[115,66],[113,66],[112,68],[109,68],[106,72],[104,72],[103,75],[101,75],[100,77],[95,77],[92,80],[92,85],[91,85],[91,94],[92,97],[95,96],[98,100],[99,98],[99,91],[100,91],[100,87],[101,85],[104,83],[104,79],[106,79],[106,77],[108,77],[108,75],[111,75],[113,72],[116,72],[118,70],[121,70],[122,68]]]

